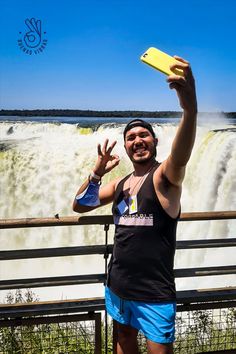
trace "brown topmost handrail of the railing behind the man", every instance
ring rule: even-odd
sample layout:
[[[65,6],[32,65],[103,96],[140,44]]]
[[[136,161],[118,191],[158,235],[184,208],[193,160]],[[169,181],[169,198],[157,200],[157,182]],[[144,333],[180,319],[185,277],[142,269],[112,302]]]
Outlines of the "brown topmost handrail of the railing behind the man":
[[[182,213],[180,221],[236,219],[236,211]],[[64,216],[52,218],[0,219],[0,229],[27,227],[113,224],[112,215]]]

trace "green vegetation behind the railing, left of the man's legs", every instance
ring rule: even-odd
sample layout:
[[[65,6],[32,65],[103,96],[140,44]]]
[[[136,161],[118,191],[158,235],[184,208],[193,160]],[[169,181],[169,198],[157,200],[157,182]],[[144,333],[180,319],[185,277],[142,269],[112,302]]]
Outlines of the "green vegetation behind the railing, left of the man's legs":
[[[37,296],[27,290],[22,294],[9,293],[7,304],[38,301]],[[19,320],[20,323],[20,320]],[[94,323],[91,321],[69,323],[47,323],[15,325],[0,328],[1,354],[59,354],[94,353]]]

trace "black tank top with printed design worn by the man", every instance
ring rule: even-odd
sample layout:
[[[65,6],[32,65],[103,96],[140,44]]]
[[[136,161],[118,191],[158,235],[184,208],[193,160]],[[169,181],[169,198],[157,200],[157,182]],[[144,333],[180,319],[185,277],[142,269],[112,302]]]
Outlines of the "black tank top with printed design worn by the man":
[[[114,248],[107,285],[121,298],[145,302],[175,300],[174,254],[177,220],[162,208],[151,170],[137,194],[137,212],[120,215],[125,177],[117,186],[112,212]]]

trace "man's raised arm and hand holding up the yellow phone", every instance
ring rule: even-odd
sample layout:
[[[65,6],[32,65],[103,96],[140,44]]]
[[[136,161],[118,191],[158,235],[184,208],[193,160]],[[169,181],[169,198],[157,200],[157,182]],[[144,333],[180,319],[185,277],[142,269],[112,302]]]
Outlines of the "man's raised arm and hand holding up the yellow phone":
[[[182,69],[184,77],[171,75],[167,82],[170,88],[177,92],[180,106],[183,108],[183,115],[171,147],[171,153],[164,161],[162,168],[163,174],[170,183],[180,186],[195,141],[197,99],[194,77],[189,63],[180,57],[175,56],[175,58],[178,63],[173,65],[171,69]]]

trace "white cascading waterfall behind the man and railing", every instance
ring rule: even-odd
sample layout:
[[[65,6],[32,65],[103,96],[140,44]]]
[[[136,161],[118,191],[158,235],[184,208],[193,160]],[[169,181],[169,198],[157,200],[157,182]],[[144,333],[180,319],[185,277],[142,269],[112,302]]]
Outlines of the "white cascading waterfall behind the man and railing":
[[[200,125],[183,187],[182,211],[236,210],[236,131],[225,122],[215,130]],[[169,153],[175,124],[154,124],[159,138],[158,160]],[[126,175],[132,166],[123,148],[123,126],[103,124],[96,130],[76,124],[40,122],[0,123],[0,218],[73,215],[72,200],[78,186],[96,161],[96,146],[107,137],[117,140],[114,149],[120,165],[103,179]],[[110,214],[111,206],[91,212]],[[179,223],[178,239],[235,237],[236,221]],[[109,232],[113,239],[113,227]],[[1,230],[1,249],[26,249],[100,244],[102,226],[72,226]],[[176,268],[234,263],[234,249],[227,251],[177,251]],[[89,274],[104,271],[102,256],[60,257],[2,261],[1,279]],[[214,278],[214,279],[213,279]],[[235,285],[235,277],[177,280],[178,289]],[[209,286],[210,285],[210,286]],[[41,299],[102,295],[103,286],[37,289]],[[4,295],[4,293],[3,293]],[[3,298],[0,296],[0,299]]]

